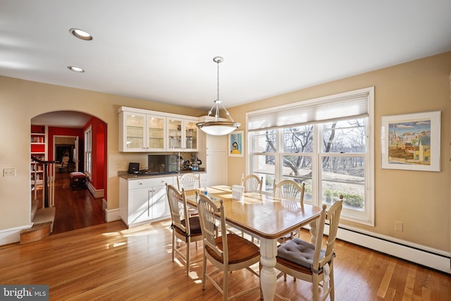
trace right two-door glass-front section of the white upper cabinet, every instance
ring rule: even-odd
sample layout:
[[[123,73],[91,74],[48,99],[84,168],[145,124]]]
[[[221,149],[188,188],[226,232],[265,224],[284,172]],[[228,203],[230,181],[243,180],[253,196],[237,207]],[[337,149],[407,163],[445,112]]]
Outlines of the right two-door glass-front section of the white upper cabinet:
[[[197,152],[197,118],[167,117],[169,152]]]

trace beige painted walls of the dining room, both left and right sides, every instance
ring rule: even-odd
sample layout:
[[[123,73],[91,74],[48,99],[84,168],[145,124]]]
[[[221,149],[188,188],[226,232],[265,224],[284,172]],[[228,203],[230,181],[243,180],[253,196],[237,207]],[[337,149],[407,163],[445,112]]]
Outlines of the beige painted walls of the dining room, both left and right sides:
[[[450,70],[451,52],[447,52],[228,109],[245,129],[248,111],[374,86],[376,226],[343,223],[449,251]],[[118,208],[118,169],[124,170],[129,161],[142,157],[118,152],[119,106],[192,116],[205,114],[178,106],[0,76],[0,171],[16,168],[16,177],[0,175],[0,231],[30,223],[30,119],[49,111],[82,111],[108,124],[108,207]],[[381,116],[433,110],[442,111],[441,171],[381,169]],[[228,184],[240,183],[245,159],[229,157],[228,171]],[[394,230],[395,221],[404,222],[404,232]]]

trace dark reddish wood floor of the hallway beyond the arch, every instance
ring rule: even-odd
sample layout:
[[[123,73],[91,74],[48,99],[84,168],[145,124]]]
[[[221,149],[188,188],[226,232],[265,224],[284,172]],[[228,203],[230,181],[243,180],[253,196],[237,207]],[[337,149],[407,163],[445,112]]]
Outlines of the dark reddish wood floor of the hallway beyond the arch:
[[[34,194],[32,194],[34,198]],[[42,190],[37,191],[42,204]],[[105,223],[102,199],[95,199],[89,190],[72,190],[69,173],[56,172],[55,176],[55,223],[53,234]]]

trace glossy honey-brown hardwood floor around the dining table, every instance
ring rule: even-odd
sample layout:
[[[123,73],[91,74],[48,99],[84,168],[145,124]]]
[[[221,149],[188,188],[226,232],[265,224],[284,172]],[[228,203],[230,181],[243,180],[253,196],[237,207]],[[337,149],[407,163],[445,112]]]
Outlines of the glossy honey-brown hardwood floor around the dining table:
[[[47,284],[50,300],[221,300],[211,283],[202,290],[202,262],[186,276],[183,264],[171,261],[170,226],[166,220],[128,229],[113,221],[0,246],[0,283]],[[192,244],[191,250],[194,260],[202,258],[201,247]],[[341,240],[336,252],[335,300],[451,299],[450,275]],[[257,283],[249,271],[234,271],[229,292]],[[277,293],[292,300],[312,297],[309,283],[290,276],[278,279]],[[237,300],[259,300],[259,293]]]

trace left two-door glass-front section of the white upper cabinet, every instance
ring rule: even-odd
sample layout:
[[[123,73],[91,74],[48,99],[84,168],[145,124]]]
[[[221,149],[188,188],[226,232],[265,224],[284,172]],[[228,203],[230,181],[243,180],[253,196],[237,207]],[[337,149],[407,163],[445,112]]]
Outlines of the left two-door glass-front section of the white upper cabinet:
[[[166,117],[134,111],[119,112],[120,152],[163,152]]]

